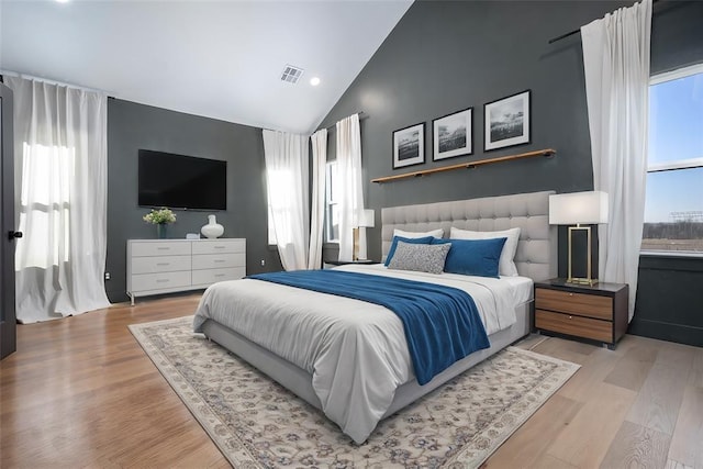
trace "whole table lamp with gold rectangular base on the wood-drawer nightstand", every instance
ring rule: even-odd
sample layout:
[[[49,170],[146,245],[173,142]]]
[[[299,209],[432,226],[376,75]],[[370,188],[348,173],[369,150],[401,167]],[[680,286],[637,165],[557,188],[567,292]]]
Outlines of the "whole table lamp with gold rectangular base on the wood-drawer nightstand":
[[[593,273],[593,241],[591,237],[591,226],[581,224],[607,223],[607,194],[600,191],[571,192],[549,196],[549,224],[551,225],[573,225],[569,226],[569,283],[598,283],[598,278]],[[573,234],[580,232],[585,239],[580,239],[580,245],[585,244],[585,269],[582,277],[573,275]],[[577,236],[578,238],[578,236]]]

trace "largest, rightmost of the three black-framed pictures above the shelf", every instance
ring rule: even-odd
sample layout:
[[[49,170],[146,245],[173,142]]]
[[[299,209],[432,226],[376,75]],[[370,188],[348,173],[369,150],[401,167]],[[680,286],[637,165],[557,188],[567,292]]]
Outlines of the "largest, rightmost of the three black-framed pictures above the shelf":
[[[523,91],[483,105],[487,152],[529,143],[529,93]]]

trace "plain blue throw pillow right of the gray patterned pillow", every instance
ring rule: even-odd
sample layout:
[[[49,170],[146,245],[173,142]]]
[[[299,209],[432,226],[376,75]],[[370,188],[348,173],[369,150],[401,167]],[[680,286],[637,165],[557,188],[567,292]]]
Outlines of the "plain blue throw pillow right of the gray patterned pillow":
[[[444,264],[445,272],[498,278],[498,264],[505,239],[432,239],[432,244],[451,243]]]

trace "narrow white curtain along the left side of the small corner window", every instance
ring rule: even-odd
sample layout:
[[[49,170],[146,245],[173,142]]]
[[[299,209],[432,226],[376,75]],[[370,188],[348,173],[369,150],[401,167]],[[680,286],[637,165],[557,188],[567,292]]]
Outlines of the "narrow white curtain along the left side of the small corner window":
[[[327,130],[322,129],[311,137],[312,142],[312,204],[310,222],[310,254],[308,268],[322,267],[322,243],[325,220],[325,165],[327,163]]]

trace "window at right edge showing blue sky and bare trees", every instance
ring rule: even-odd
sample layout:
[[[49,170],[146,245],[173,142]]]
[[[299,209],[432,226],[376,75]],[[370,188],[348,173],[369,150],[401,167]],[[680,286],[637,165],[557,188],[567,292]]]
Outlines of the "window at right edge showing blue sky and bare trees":
[[[652,77],[641,249],[703,254],[703,64]]]

